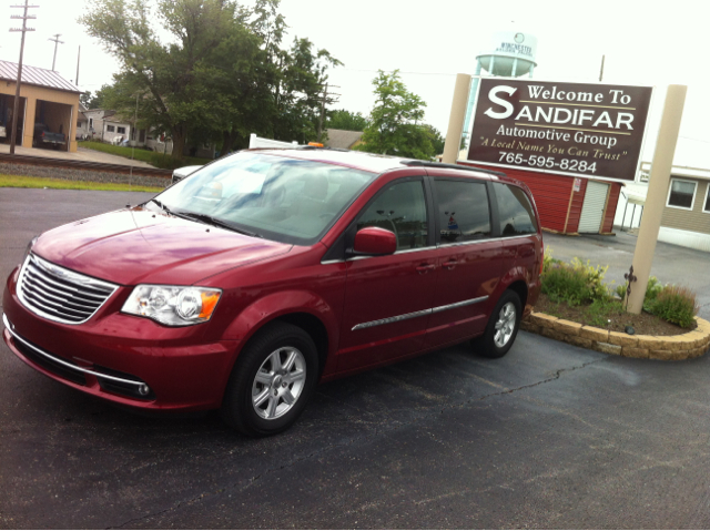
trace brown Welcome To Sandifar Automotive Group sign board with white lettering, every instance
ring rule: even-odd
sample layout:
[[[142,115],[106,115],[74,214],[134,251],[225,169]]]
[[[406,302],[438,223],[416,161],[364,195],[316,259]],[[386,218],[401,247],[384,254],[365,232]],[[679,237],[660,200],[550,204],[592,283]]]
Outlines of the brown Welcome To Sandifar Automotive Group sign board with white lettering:
[[[652,88],[481,79],[468,160],[633,181]]]

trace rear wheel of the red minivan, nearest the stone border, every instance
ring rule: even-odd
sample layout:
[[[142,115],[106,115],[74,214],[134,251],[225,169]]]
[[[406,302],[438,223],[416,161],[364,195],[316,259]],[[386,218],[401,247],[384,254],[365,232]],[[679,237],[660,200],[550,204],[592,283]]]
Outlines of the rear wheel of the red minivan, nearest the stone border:
[[[474,348],[487,358],[504,357],[515,343],[521,316],[520,297],[510,289],[506,290],[490,314],[486,331],[474,340]]]

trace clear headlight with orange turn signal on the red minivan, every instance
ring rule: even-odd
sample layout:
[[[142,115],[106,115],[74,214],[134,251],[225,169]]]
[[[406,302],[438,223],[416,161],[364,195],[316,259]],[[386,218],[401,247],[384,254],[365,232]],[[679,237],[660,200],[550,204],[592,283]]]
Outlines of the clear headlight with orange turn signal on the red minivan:
[[[210,320],[221,289],[194,286],[135,286],[121,312],[149,317],[168,326]]]

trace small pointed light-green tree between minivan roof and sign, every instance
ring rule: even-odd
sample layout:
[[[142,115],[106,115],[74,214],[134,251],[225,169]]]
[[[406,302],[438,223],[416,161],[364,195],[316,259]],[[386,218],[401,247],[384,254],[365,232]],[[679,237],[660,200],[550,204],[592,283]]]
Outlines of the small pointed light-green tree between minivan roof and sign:
[[[381,70],[373,84],[375,106],[358,149],[410,159],[434,157],[434,139],[427,129],[430,126],[418,124],[424,118],[426,103],[407,91],[399,79],[399,71],[387,74]]]

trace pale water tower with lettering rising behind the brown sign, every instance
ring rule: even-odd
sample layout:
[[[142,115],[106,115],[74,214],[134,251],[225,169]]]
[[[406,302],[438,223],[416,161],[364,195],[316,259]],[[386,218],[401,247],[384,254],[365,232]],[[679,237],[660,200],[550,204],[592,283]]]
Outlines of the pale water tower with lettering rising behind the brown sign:
[[[488,51],[476,57],[476,73],[470,84],[468,94],[468,105],[466,106],[466,119],[464,120],[464,135],[468,139],[470,130],[471,112],[478,89],[478,76],[480,71],[486,70],[490,75],[501,78],[519,78],[529,74],[537,63],[537,37],[520,31],[499,31],[494,33]]]

